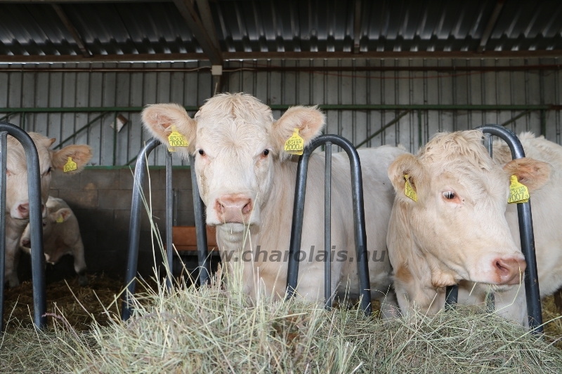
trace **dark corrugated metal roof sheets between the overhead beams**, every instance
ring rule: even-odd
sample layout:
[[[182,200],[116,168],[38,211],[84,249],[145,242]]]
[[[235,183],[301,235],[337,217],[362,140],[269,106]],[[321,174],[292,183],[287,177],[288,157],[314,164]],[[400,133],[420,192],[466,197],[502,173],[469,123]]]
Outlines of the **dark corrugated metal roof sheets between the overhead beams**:
[[[362,1],[360,51],[476,51],[496,1]],[[173,2],[61,4],[93,55],[202,53]],[[354,1],[210,2],[223,52],[347,52]],[[0,4],[0,54],[80,55],[49,4]],[[562,1],[506,1],[487,51],[562,50]]]

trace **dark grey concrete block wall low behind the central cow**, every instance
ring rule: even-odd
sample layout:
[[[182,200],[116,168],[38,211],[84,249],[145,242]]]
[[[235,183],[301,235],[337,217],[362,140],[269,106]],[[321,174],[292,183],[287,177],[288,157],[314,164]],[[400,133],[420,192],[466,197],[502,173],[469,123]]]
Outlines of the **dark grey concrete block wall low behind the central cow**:
[[[150,167],[152,218],[162,238],[165,229],[166,170]],[[190,170],[176,166],[174,188],[178,196],[178,225],[195,225]],[[148,179],[143,190],[149,195]],[[129,167],[89,167],[76,175],[53,174],[51,196],[64,199],[78,218],[89,272],[124,275],[129,238],[133,171]],[[148,213],[143,209],[138,271],[152,276],[154,259]],[[157,247],[155,247],[157,248]],[[157,251],[157,262],[160,262]]]

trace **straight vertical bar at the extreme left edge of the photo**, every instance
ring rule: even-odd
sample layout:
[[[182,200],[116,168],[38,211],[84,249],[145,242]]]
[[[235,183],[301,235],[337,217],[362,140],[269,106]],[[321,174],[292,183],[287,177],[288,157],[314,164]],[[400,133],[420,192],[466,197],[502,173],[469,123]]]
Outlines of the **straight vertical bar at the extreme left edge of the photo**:
[[[6,265],[6,159],[8,133],[0,133],[0,331],[4,330],[4,270]]]

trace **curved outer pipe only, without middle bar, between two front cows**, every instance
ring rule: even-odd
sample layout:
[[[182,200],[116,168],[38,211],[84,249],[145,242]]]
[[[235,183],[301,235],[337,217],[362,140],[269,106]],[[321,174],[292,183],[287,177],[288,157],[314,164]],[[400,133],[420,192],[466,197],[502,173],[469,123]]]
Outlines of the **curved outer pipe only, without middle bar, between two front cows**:
[[[353,195],[353,223],[355,227],[355,251],[360,282],[361,309],[366,315],[371,314],[371,290],[369,267],[367,264],[367,233],[365,232],[365,206],[363,203],[363,182],[361,163],[357,149],[351,142],[339,135],[321,135],[311,142],[299,157],[296,168],[295,196],[293,204],[293,221],[291,225],[291,240],[289,244],[289,264],[287,269],[287,298],[296,292],[299,277],[299,251],[303,230],[304,198],[306,194],[306,175],[308,160],[314,149],[327,142],[338,145],[347,153],[351,163],[351,191]]]

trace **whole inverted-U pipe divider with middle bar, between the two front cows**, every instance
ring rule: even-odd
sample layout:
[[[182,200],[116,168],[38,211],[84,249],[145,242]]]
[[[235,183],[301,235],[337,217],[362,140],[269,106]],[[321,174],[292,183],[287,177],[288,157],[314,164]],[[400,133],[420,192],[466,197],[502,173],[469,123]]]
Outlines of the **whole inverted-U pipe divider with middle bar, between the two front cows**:
[[[351,164],[351,192],[353,198],[353,223],[355,227],[355,251],[357,255],[357,267],[360,283],[361,309],[366,315],[371,314],[371,289],[369,280],[369,267],[367,264],[367,233],[365,232],[365,206],[363,204],[363,184],[361,163],[357,149],[351,142],[339,135],[321,135],[311,142],[299,157],[296,169],[295,196],[293,205],[293,221],[291,225],[291,239],[289,244],[289,264],[287,269],[287,298],[292,298],[296,293],[299,277],[299,253],[301,249],[301,238],[303,230],[304,199],[306,194],[306,175],[308,161],[314,149],[320,145],[326,145],[326,170],[325,170],[325,207],[329,207],[331,199],[331,186],[329,180],[332,176],[331,149],[332,144],[338,145],[347,153]],[[329,150],[328,150],[329,149]],[[329,160],[328,160],[329,159]],[[329,220],[328,208],[325,212],[325,307],[332,305],[332,283],[330,256],[331,251],[331,222]]]

